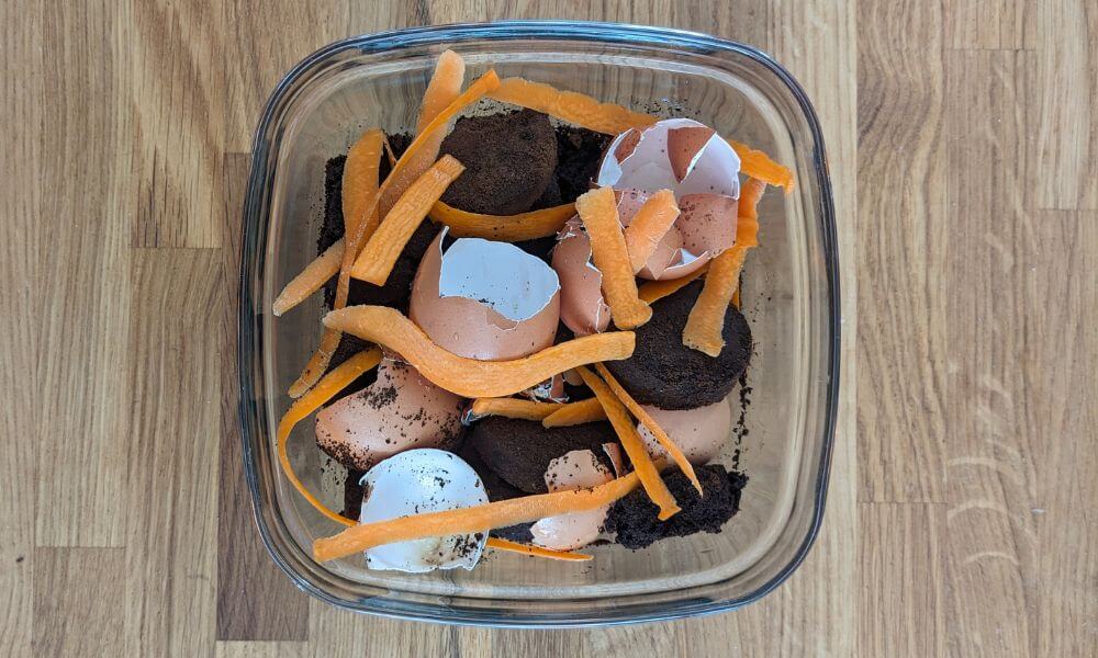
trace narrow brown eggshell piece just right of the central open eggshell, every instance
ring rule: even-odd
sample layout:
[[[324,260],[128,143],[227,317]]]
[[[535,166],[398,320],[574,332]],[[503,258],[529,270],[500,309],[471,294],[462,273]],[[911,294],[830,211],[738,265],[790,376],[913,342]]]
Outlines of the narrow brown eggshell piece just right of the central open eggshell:
[[[591,240],[578,222],[570,222],[552,252],[560,279],[560,319],[576,336],[605,331],[610,307],[603,298],[603,274],[591,262]]]

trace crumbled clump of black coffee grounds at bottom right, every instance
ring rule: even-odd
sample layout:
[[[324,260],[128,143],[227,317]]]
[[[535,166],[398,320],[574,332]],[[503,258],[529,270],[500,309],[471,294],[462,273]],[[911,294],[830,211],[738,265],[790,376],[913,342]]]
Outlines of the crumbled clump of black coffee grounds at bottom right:
[[[645,548],[668,537],[684,537],[698,532],[718,533],[740,509],[740,492],[747,485],[746,475],[726,470],[719,464],[694,469],[702,483],[704,497],[680,470],[668,475],[671,495],[682,508],[674,517],[660,521],[659,508],[643,489],[637,489],[610,506],[604,529],[617,533],[617,543],[626,548]]]

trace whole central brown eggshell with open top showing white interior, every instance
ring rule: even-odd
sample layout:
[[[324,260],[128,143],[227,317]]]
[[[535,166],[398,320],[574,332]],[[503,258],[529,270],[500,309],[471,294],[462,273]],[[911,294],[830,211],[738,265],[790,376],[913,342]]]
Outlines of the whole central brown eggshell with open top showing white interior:
[[[408,315],[436,343],[483,361],[519,359],[553,343],[560,281],[541,259],[508,242],[446,229],[419,262]]]

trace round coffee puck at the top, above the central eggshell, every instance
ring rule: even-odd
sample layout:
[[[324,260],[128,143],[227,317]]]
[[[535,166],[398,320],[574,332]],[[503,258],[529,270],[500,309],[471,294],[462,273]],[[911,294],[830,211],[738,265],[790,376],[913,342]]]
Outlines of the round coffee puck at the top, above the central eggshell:
[[[552,125],[547,115],[533,110],[459,118],[439,154],[466,166],[442,201],[488,215],[530,209],[557,169]]]

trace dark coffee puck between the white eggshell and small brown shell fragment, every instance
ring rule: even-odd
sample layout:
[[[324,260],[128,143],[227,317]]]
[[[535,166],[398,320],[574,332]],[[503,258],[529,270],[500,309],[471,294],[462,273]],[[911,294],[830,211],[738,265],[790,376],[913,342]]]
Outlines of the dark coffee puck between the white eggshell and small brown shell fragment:
[[[608,422],[545,428],[537,421],[501,416],[474,422],[468,436],[489,468],[527,494],[547,492],[545,474],[549,462],[573,450],[591,450],[610,466],[602,446],[617,441]]]

